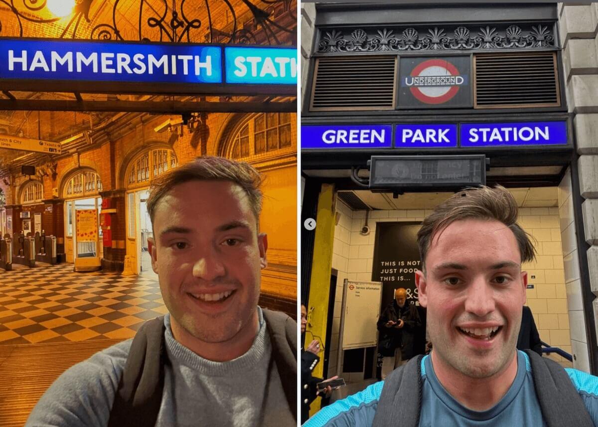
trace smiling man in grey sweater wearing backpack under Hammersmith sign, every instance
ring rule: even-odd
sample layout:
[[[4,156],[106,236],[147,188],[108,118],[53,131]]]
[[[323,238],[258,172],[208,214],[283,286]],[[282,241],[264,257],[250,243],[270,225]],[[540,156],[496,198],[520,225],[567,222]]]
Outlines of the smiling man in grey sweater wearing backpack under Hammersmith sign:
[[[261,178],[202,157],[152,182],[152,268],[169,313],[66,371],[26,426],[294,426],[297,323],[258,307]]]

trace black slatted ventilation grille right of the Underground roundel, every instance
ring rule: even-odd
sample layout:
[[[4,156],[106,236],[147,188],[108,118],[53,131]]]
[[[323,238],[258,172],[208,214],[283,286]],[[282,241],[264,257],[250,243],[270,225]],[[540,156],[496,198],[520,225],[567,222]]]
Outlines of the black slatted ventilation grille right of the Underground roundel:
[[[474,108],[560,106],[556,53],[476,55]]]

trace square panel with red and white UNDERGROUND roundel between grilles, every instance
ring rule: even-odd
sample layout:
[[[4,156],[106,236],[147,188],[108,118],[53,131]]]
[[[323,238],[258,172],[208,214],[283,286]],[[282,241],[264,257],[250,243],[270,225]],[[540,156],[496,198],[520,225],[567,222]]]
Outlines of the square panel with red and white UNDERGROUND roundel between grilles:
[[[401,107],[472,106],[469,56],[401,57],[399,70]]]

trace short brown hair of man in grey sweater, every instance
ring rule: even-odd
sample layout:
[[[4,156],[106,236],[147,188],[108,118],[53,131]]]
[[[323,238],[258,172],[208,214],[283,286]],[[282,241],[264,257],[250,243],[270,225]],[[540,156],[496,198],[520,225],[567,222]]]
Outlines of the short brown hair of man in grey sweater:
[[[255,219],[259,221],[262,206],[260,172],[244,161],[206,155],[197,157],[175,169],[170,169],[151,182],[147,210],[152,224],[154,223],[155,208],[162,197],[176,185],[189,181],[231,181],[239,185],[247,194],[251,210]],[[189,200],[189,203],[201,203],[201,200]]]

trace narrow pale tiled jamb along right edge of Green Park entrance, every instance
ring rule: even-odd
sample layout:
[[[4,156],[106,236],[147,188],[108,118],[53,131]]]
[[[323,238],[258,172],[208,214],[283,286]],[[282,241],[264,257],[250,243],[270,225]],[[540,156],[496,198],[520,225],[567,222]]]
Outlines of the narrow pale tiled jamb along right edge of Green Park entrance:
[[[581,280],[579,280],[579,258],[573,220],[573,197],[571,173],[568,169],[559,185],[559,228],[563,247],[563,264],[569,330],[573,353],[573,367],[590,372],[588,344],[585,336],[584,306],[581,298]],[[550,343],[558,345],[556,343]]]

